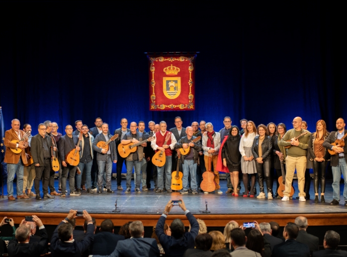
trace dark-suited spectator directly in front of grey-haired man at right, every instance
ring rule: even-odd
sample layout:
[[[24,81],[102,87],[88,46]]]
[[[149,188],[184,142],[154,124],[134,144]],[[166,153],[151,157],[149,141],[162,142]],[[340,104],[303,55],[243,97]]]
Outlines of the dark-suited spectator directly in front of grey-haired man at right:
[[[296,237],[299,233],[299,227],[293,222],[288,222],[284,227],[283,236],[285,242],[275,245],[272,252],[273,257],[309,257],[310,249],[304,244],[298,242]]]

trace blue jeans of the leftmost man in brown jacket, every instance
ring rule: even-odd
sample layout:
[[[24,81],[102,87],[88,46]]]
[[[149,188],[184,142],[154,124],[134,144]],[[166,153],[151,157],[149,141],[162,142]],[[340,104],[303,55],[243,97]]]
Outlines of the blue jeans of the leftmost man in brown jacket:
[[[17,196],[23,194],[23,176],[24,176],[24,165],[20,158],[17,164],[8,163],[7,164],[7,194],[8,196],[13,196],[13,180],[17,174]]]

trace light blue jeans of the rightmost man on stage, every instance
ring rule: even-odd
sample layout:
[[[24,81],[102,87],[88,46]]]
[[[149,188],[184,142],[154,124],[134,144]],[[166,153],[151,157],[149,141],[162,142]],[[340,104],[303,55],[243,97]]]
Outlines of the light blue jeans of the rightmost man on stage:
[[[343,189],[343,198],[344,201],[347,201],[347,165],[346,160],[338,159],[338,166],[331,167],[332,170],[332,199],[336,201],[340,200],[340,179],[341,174],[344,180],[344,189]]]

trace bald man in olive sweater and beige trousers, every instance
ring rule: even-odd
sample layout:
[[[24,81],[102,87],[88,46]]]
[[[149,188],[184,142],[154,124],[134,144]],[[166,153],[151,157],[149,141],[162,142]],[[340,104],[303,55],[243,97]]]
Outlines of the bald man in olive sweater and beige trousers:
[[[296,174],[298,176],[298,187],[299,187],[299,201],[305,202],[305,171],[306,171],[306,156],[308,149],[308,141],[310,140],[311,133],[303,130],[301,128],[302,118],[295,117],[293,119],[293,128],[286,132],[281,141],[279,142],[280,146],[291,146],[287,149],[286,157],[286,187],[283,192],[284,197],[282,201],[289,201],[289,193],[292,189],[292,181],[294,172],[296,169]],[[307,132],[306,135],[295,140],[296,137],[299,137],[302,133]],[[290,142],[287,142],[290,141]]]

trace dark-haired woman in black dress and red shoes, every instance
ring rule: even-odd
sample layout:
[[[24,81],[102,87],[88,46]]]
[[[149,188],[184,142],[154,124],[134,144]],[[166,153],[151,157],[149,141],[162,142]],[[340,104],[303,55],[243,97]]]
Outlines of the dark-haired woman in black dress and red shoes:
[[[237,188],[238,174],[241,171],[240,139],[240,131],[237,126],[233,125],[222,148],[223,165],[229,170],[230,181],[234,189]],[[234,190],[232,195],[238,196],[237,190]]]

